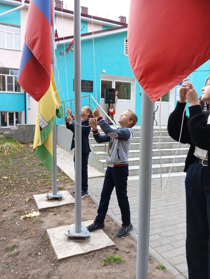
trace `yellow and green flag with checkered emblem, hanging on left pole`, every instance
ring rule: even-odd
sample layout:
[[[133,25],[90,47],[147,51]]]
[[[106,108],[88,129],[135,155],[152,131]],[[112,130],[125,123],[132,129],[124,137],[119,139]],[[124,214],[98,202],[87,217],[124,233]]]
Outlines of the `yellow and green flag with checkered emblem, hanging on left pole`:
[[[54,92],[56,92],[54,94]],[[49,171],[53,169],[53,126],[55,115],[62,118],[63,108],[51,69],[48,91],[38,102],[33,150]]]

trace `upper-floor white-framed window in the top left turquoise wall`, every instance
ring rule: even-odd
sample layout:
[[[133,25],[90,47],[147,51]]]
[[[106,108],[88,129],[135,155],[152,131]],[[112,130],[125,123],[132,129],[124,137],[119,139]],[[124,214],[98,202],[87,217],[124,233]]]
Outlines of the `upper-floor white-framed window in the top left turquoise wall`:
[[[20,27],[0,24],[0,48],[20,50]]]

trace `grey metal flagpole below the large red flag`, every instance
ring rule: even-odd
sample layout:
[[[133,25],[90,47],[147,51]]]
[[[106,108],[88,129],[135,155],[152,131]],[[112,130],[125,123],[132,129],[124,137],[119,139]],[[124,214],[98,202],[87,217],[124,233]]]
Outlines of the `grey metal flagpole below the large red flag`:
[[[142,89],[136,279],[148,278],[154,103]]]

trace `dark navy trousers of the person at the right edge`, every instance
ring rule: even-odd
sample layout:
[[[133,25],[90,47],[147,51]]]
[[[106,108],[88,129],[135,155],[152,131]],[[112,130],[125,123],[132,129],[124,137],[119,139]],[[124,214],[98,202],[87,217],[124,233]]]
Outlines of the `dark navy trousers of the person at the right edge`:
[[[197,161],[187,170],[186,257],[189,279],[210,279],[210,170]]]

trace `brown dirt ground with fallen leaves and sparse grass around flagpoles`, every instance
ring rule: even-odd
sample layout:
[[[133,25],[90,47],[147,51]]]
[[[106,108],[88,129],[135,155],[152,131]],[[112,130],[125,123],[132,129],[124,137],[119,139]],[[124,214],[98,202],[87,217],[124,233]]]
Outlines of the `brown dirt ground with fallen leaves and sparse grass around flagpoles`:
[[[74,189],[74,183],[57,170],[57,189]],[[52,192],[52,176],[36,157],[30,144],[21,152],[0,155],[0,278],[81,279],[136,278],[136,242],[126,236],[118,238],[118,225],[106,217],[105,233],[115,246],[57,261],[46,229],[74,224],[74,205],[41,211],[40,216],[20,220],[24,212],[38,211],[34,194]],[[82,199],[82,221],[93,220],[97,205],[90,196]],[[102,266],[102,259],[120,255],[124,261]],[[149,279],[172,279],[167,270],[149,256]]]

